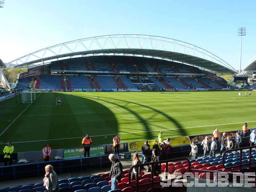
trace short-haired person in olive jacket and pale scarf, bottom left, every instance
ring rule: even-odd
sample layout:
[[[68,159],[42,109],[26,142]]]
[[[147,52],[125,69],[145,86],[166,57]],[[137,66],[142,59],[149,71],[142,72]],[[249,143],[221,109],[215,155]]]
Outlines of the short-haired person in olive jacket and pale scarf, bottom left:
[[[59,192],[59,178],[52,165],[45,166],[44,186],[47,192]]]

